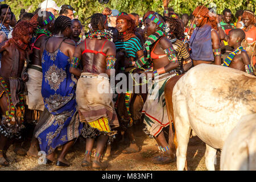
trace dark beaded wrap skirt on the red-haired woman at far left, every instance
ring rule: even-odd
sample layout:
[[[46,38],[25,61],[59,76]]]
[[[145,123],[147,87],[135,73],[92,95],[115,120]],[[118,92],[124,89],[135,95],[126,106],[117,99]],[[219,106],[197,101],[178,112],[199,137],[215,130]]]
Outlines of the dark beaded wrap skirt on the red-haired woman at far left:
[[[5,94],[7,98],[7,110],[5,115],[2,115],[0,123],[0,134],[7,138],[20,139],[22,130],[24,129],[24,96],[19,94],[19,102],[16,107],[11,100],[11,92],[6,81],[0,77],[0,98]]]

